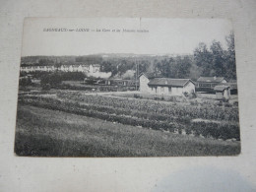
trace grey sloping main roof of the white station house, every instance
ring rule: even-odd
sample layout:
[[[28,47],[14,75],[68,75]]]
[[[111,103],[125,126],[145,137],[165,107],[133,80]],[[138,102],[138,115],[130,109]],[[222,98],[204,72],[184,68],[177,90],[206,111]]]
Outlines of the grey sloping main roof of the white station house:
[[[192,82],[190,79],[155,78],[149,82],[149,86],[183,87],[189,81]]]

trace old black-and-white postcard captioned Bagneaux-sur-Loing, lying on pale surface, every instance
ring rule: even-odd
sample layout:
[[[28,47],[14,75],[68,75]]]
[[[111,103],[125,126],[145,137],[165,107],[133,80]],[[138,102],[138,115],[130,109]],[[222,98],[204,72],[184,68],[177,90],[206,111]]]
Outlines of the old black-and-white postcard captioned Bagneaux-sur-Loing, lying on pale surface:
[[[27,18],[15,153],[236,156],[236,79],[228,20]]]

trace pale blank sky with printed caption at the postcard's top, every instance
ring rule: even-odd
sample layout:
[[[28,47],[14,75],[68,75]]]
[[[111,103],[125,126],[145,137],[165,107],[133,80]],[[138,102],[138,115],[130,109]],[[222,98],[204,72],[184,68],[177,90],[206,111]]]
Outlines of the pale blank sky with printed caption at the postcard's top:
[[[210,46],[214,39],[226,48],[224,37],[231,31],[231,23],[223,19],[27,18],[22,56],[192,54],[199,42]]]

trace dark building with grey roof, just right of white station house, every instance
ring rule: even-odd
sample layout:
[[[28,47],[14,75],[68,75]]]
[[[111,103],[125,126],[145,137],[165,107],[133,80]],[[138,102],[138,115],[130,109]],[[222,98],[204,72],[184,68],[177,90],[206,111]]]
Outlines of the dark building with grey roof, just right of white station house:
[[[198,91],[212,91],[220,84],[225,84],[227,81],[224,77],[200,77],[197,80]]]

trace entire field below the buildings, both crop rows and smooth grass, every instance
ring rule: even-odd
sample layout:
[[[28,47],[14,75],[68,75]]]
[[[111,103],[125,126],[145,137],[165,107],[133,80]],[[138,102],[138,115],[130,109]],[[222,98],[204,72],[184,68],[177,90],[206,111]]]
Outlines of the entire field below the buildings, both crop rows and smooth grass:
[[[51,157],[239,154],[237,106],[192,101],[81,91],[21,95],[15,151]]]

